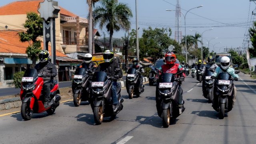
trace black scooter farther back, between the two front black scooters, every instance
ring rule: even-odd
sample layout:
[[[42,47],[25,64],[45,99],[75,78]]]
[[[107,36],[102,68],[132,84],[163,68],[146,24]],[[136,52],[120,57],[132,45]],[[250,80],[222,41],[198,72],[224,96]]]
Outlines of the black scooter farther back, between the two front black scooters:
[[[142,87],[143,79],[139,82],[140,72],[136,68],[130,68],[126,75],[126,90],[128,92],[129,98],[132,99],[134,94],[139,97],[144,91]]]

